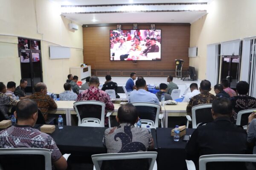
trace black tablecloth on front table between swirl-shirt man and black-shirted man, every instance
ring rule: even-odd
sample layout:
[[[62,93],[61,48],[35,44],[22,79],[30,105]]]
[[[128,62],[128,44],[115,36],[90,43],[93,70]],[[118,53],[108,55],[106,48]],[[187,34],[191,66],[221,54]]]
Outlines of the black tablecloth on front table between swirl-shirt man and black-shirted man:
[[[173,140],[173,128],[157,128],[157,169],[184,170],[186,168],[186,143],[183,137],[179,142]],[[186,135],[191,135],[195,129],[186,129]]]

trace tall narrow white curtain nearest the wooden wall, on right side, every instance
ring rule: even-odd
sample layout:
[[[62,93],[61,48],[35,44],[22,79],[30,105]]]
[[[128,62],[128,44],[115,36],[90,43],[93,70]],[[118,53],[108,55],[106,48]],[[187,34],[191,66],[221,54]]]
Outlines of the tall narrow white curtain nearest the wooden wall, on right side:
[[[206,79],[214,86],[218,82],[218,44],[207,45]]]

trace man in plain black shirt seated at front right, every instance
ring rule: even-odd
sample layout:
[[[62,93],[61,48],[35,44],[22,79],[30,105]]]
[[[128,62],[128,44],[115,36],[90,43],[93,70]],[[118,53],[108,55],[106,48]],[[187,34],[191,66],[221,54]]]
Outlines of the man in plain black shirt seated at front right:
[[[246,154],[246,131],[230,121],[232,103],[225,97],[212,102],[213,122],[199,126],[192,134],[186,145],[186,159],[198,165],[202,155],[211,154]],[[241,163],[209,163],[207,170],[244,170]],[[220,166],[221,165],[221,166]],[[241,167],[240,167],[241,166]]]

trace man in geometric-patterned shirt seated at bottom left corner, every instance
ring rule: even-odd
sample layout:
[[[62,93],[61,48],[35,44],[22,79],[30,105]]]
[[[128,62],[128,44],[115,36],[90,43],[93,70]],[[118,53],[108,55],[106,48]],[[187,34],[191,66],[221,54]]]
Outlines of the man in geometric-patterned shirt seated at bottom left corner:
[[[57,170],[66,170],[67,161],[62,156],[52,137],[33,128],[38,119],[37,104],[30,99],[20,100],[17,103],[14,115],[18,120],[17,125],[0,132],[0,147],[49,149],[51,151],[52,164]]]

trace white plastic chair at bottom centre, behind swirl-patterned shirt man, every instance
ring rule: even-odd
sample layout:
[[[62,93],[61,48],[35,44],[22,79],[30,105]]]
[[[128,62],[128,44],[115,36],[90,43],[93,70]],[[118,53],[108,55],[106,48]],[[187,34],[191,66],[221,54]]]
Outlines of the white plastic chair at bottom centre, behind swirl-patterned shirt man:
[[[148,159],[149,160],[148,170],[157,170],[157,166],[155,166],[156,158],[157,158],[157,152],[106,153],[106,154],[92,155],[92,160],[94,164],[93,170],[101,170],[101,167],[99,164],[100,161],[115,160],[114,164],[116,164],[118,162],[120,163],[120,161],[116,161],[116,160],[124,160],[124,159],[137,159],[137,160]],[[130,162],[132,164],[132,161]],[[135,164],[135,166],[137,165]]]

